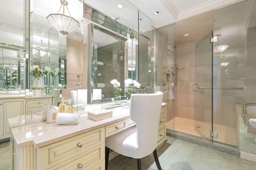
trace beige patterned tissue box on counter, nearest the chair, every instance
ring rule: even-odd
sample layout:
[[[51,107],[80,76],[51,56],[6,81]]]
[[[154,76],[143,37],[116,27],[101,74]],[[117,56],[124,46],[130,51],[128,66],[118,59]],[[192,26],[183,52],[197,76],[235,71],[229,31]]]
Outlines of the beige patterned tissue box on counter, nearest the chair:
[[[88,119],[99,121],[112,117],[112,111],[100,109],[88,112]]]

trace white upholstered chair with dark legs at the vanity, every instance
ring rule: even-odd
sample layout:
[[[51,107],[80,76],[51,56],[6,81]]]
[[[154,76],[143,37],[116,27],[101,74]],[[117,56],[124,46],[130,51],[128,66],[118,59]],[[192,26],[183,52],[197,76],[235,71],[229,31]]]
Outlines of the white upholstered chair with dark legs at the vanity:
[[[137,158],[138,170],[141,169],[141,158],[153,152],[158,170],[161,170],[156,153],[156,143],[162,99],[162,92],[131,95],[130,119],[136,125],[106,138],[106,170],[108,169],[109,149],[124,156]]]

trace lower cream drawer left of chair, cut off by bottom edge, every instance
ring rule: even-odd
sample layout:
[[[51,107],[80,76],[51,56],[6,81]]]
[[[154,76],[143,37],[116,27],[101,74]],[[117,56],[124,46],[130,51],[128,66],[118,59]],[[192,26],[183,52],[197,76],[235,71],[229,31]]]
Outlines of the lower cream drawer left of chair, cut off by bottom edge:
[[[82,154],[74,156],[68,161],[62,162],[49,170],[64,170],[64,169],[84,169],[97,170],[105,166],[105,144],[99,145]]]

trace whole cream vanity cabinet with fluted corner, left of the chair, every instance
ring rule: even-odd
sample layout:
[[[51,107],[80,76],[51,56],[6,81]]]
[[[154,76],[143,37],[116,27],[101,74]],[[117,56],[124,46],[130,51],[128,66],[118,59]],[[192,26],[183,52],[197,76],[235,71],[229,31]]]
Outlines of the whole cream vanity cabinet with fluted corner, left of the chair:
[[[104,170],[105,127],[37,149],[33,145],[14,147],[13,166],[17,170]]]

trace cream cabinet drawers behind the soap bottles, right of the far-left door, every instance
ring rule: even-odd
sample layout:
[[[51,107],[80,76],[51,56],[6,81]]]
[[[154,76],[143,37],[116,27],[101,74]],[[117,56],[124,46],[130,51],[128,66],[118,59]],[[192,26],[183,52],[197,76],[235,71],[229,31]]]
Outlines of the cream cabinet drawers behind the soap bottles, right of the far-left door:
[[[41,109],[45,104],[52,105],[52,96],[26,98],[26,115],[31,115],[33,109]]]

